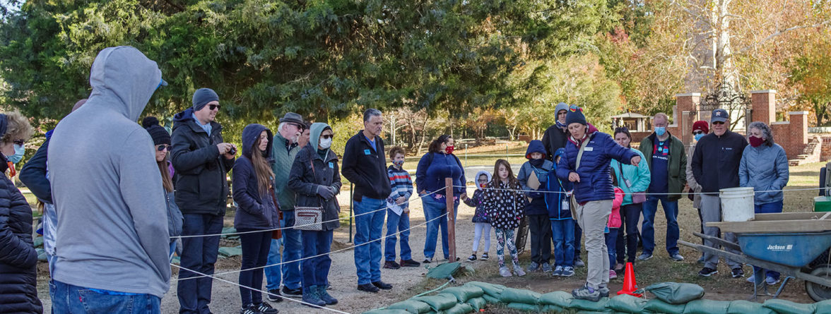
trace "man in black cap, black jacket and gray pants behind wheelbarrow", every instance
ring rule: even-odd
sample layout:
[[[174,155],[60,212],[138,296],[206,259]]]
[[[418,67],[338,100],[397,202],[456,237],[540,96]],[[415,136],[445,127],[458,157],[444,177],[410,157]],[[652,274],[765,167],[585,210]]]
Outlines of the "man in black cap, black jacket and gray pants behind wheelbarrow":
[[[721,221],[721,200],[719,189],[735,188],[739,186],[739,163],[741,154],[747,146],[745,137],[730,132],[730,115],[727,110],[716,109],[711,115],[711,130],[713,133],[704,135],[696,144],[696,152],[692,155],[692,174],[698,184],[701,184],[701,220],[702,223]],[[705,161],[705,158],[707,161]],[[719,236],[719,228],[704,227],[704,234],[711,237]],[[736,242],[733,233],[724,233],[727,241]],[[719,245],[711,241],[704,241],[711,248]],[[733,251],[728,249],[729,251]],[[738,253],[738,252],[734,252]],[[704,268],[699,275],[710,277],[716,271],[719,257],[710,253],[704,254]],[[745,276],[739,262],[727,259],[731,275],[734,278]]]

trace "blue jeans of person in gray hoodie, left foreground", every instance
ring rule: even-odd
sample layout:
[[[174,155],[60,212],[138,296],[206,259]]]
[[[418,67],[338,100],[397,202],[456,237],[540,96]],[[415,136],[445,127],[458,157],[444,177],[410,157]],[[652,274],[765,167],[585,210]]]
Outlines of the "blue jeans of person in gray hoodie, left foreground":
[[[111,295],[54,280],[50,282],[53,314],[161,313],[161,298],[150,294]]]

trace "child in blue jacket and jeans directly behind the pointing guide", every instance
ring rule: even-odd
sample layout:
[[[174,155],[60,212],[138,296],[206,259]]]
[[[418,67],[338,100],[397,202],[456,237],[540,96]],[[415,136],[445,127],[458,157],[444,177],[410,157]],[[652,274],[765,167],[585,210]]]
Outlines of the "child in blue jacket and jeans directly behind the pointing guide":
[[[554,243],[554,272],[552,276],[571,277],[574,275],[574,219],[571,215],[572,183],[557,178],[557,163],[566,150],[554,152],[554,166],[546,175],[545,190],[557,193],[545,194],[545,206],[551,222]]]

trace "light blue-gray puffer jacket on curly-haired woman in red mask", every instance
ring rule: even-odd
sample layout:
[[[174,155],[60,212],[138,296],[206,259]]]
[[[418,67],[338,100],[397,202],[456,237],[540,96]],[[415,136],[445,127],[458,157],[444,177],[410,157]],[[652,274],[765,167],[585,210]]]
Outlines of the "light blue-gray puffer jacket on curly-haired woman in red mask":
[[[771,163],[771,161],[773,161]],[[778,202],[783,199],[782,191],[772,191],[784,188],[788,184],[788,156],[779,144],[773,146],[747,145],[741,153],[739,164],[739,186],[753,187],[756,191],[754,203],[756,205]]]

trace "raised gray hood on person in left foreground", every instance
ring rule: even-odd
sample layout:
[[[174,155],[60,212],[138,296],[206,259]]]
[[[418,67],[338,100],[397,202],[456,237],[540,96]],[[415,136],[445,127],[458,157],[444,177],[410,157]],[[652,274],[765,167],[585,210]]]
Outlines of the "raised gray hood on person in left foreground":
[[[162,82],[159,66],[138,49],[108,47],[92,62],[92,93],[87,102],[112,106],[127,119],[139,120]]]

